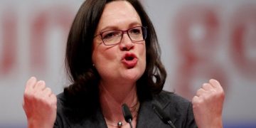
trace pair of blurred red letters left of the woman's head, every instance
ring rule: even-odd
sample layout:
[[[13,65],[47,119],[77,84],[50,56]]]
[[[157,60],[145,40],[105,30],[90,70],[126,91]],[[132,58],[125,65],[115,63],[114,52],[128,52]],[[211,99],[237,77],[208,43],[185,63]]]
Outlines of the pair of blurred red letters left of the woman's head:
[[[0,48],[0,76],[7,77],[12,70],[18,66],[18,21],[21,17],[17,16],[16,9],[8,9],[1,12],[0,26],[2,39]],[[28,72],[38,71],[44,73],[46,71],[47,56],[46,45],[49,38],[47,33],[53,28],[60,28],[63,33],[63,38],[67,38],[70,25],[72,23],[74,14],[68,6],[52,6],[38,9],[34,16],[29,17],[31,21],[28,23]],[[26,18],[26,17],[22,17]],[[66,40],[65,40],[66,41]],[[65,42],[63,42],[65,44]]]

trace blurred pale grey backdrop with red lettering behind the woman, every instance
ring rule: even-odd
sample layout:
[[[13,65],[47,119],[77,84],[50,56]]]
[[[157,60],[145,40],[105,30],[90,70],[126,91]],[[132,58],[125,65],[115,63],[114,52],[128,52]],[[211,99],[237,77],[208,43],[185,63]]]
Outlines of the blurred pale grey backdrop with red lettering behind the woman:
[[[256,127],[256,1],[141,0],[154,23],[168,78],[191,100],[210,78],[225,90],[225,127]],[[26,80],[58,94],[69,84],[65,43],[82,0],[0,1],[0,127],[26,127]]]

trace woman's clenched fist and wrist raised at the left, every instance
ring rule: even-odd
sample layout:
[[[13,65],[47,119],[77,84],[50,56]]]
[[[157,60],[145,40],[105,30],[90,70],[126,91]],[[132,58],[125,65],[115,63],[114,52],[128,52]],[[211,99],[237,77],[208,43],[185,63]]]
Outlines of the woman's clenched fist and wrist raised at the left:
[[[57,98],[42,80],[32,77],[26,83],[23,110],[28,127],[53,128],[57,113]]]

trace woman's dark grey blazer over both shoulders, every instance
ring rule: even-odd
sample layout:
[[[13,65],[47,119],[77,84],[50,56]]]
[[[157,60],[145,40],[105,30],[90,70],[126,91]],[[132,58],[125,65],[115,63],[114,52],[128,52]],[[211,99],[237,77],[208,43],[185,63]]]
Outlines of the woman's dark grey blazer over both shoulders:
[[[58,95],[58,105],[57,105],[57,118],[54,124],[54,127],[69,128],[69,127],[102,127],[107,128],[107,124],[102,115],[101,110],[97,110],[95,117],[84,119],[80,123],[73,123],[68,119],[64,113],[64,109],[67,109],[64,106],[65,96],[63,93]],[[143,127],[161,127],[169,128],[169,125],[164,124],[161,119],[156,115],[153,110],[153,105],[158,105],[168,114],[171,118],[171,122],[176,126],[180,127],[196,127],[196,122],[193,117],[193,110],[191,102],[185,100],[183,97],[180,97],[172,92],[162,91],[159,95],[154,95],[152,100],[147,100],[141,102],[139,108],[139,114],[137,117],[137,128]]]

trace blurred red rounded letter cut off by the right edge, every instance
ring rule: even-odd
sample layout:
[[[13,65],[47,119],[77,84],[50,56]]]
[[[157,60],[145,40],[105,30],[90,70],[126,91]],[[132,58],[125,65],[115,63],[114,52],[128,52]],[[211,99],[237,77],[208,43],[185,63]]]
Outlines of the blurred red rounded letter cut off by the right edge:
[[[256,6],[238,8],[230,19],[230,57],[245,78],[256,78]]]

